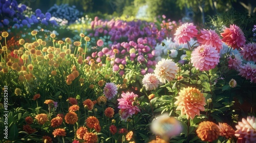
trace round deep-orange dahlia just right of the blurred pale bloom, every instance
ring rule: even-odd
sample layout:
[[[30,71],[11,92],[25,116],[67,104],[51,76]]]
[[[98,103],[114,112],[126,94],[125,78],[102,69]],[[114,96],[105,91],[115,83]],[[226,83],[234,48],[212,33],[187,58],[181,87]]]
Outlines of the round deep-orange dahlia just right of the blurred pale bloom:
[[[214,141],[220,135],[220,129],[218,125],[213,122],[204,121],[198,125],[198,129],[196,130],[197,135],[203,141]]]

